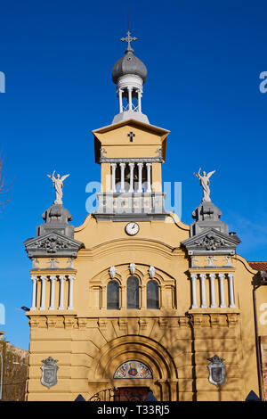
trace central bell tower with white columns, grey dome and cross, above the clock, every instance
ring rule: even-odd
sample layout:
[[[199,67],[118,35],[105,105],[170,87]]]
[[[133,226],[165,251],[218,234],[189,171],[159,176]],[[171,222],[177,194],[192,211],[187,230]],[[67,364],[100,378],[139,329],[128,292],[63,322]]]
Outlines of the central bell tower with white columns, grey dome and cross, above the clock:
[[[101,164],[98,219],[165,219],[161,165],[169,131],[150,125],[142,113],[145,64],[134,55],[128,31],[125,55],[113,66],[119,113],[112,124],[93,131],[95,160]]]

